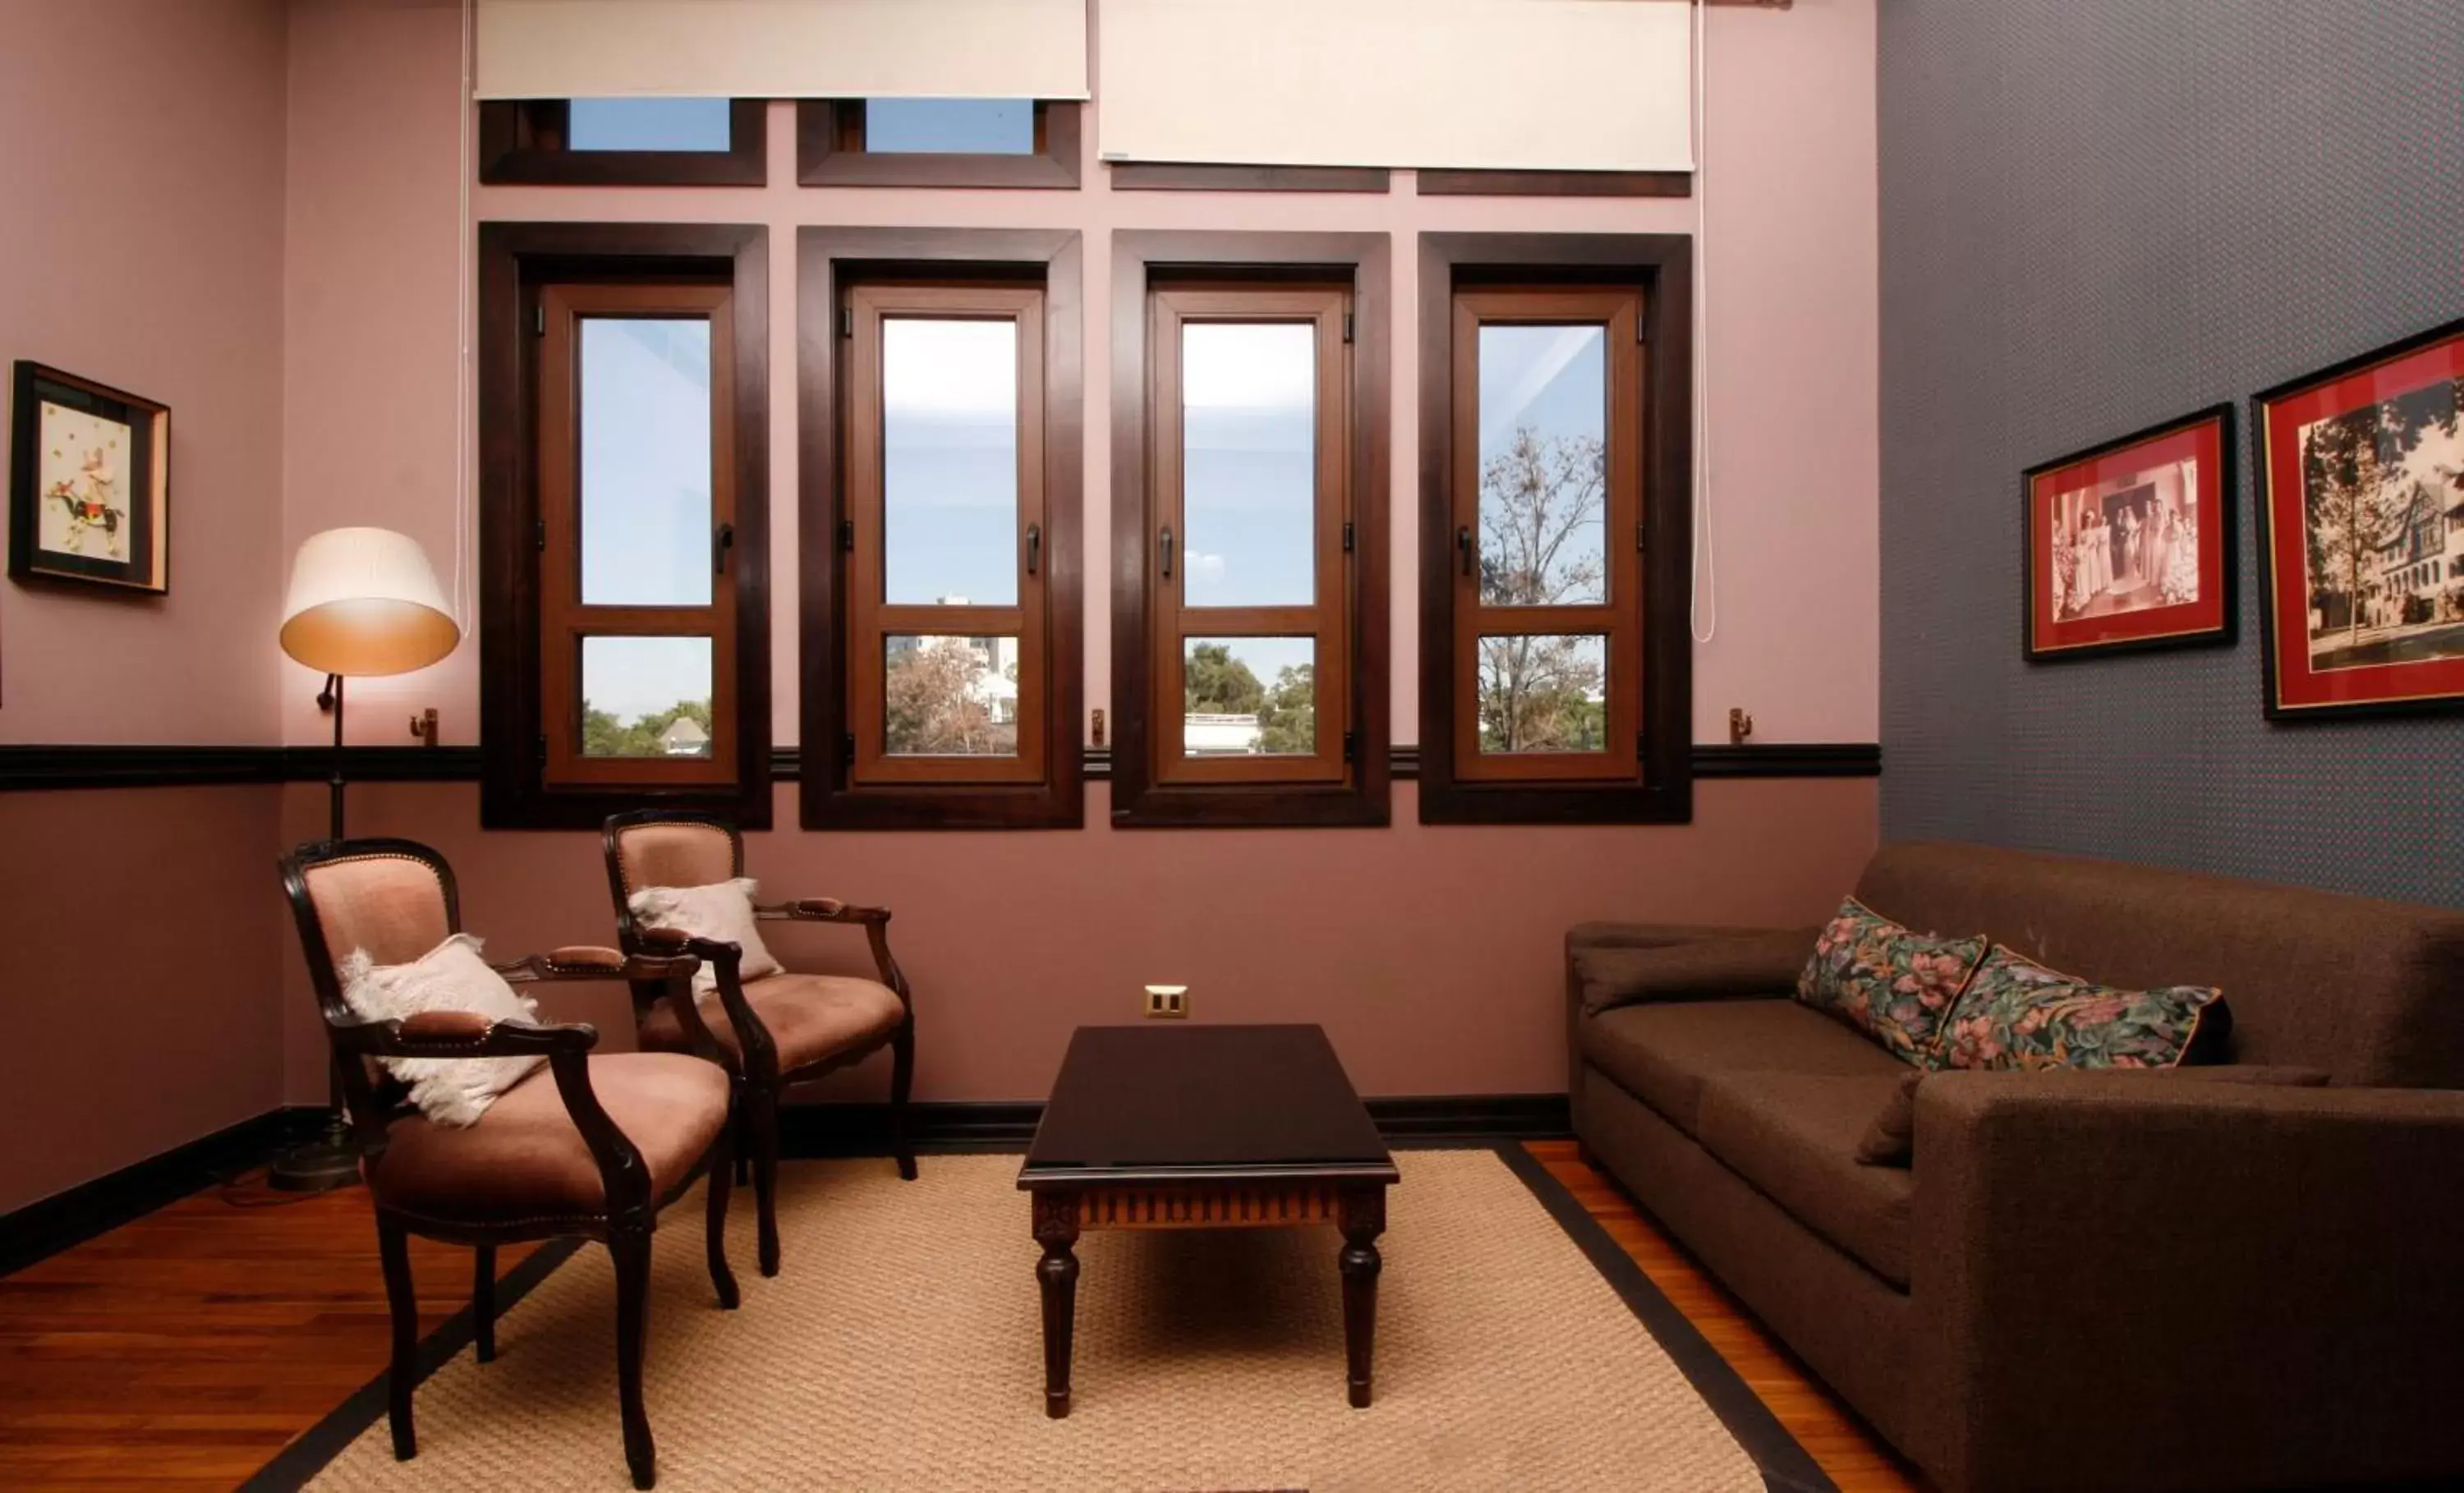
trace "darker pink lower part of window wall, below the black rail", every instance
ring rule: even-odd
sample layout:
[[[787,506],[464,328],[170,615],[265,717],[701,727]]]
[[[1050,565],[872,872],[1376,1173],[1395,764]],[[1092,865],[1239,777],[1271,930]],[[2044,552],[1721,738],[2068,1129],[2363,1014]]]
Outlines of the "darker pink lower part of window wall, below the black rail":
[[[352,788],[362,833],[416,835],[453,860],[463,921],[503,958],[611,944],[596,833],[483,833],[461,783]],[[1138,988],[1188,983],[1198,1020],[1323,1022],[1363,1094],[1545,1094],[1565,1086],[1560,939],[1587,919],[1811,924],[1873,850],[1870,779],[1705,781],[1695,823],[1429,828],[1395,786],[1392,830],[1114,830],[1104,783],[1084,833],[752,835],[747,870],[776,897],[897,912],[917,990],[919,1099],[1037,1099],[1079,1022],[1136,1020]],[[796,788],[779,791],[796,823]],[[288,838],[323,833],[325,798],[293,786]],[[867,971],[845,929],[788,929],[774,953]],[[293,1101],[315,1099],[323,1047],[286,949]],[[618,985],[549,1010],[628,1045]],[[882,1096],[882,1072],[830,1089]]]

